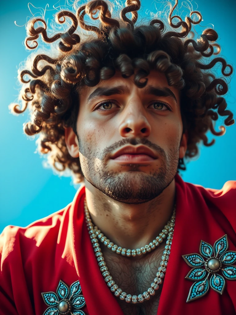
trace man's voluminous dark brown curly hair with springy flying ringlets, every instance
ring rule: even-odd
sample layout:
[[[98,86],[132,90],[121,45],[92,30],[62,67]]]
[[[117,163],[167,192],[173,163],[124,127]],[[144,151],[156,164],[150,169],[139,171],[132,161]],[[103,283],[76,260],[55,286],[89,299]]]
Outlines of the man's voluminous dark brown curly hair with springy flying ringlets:
[[[233,114],[221,96],[227,93],[228,83],[224,78],[216,78],[209,72],[216,63],[222,65],[222,75],[228,77],[233,68],[221,57],[207,61],[220,53],[220,46],[214,43],[218,35],[211,28],[205,29],[200,38],[193,39],[191,27],[199,24],[202,16],[192,11],[182,20],[173,16],[178,1],[171,7],[168,17],[169,31],[164,22],[153,19],[148,25],[135,26],[140,9],[139,0],[126,0],[120,18],[112,18],[108,4],[103,0],[93,0],[78,8],[76,14],[61,11],[56,21],[65,23],[70,18],[71,26],[64,33],[48,37],[47,25],[41,18],[33,18],[27,24],[25,45],[28,49],[38,46],[41,34],[46,43],[59,40],[59,54],[53,59],[46,54],[38,54],[32,62],[31,70],[23,70],[20,80],[26,87],[21,94],[23,106],[15,104],[15,113],[22,113],[30,106],[31,121],[24,125],[27,135],[39,134],[40,152],[47,154],[49,163],[58,171],[72,171],[75,182],[83,180],[79,158],[71,157],[65,144],[65,127],[72,127],[76,133],[79,109],[79,88],[95,86],[101,80],[108,80],[120,71],[122,77],[134,75],[134,83],[143,88],[151,70],[165,74],[170,86],[181,91],[181,115],[183,132],[188,134],[185,158],[198,154],[198,144],[211,146],[208,130],[213,135],[225,133],[225,127],[216,132],[214,122],[219,115],[224,116],[224,125],[234,123]],[[131,13],[131,19],[126,14]],[[99,19],[99,25],[87,25],[85,14],[92,20]],[[95,15],[98,14],[97,17]],[[192,19],[195,14],[197,19]],[[173,23],[176,18],[178,22]],[[42,26],[36,27],[39,22]],[[81,40],[80,31],[88,36]],[[181,28],[180,31],[174,29]],[[43,66],[39,66],[40,62]],[[228,71],[226,68],[228,67]],[[26,80],[25,75],[31,77]],[[77,133],[76,133],[77,134]],[[184,159],[179,159],[178,170],[185,170]]]

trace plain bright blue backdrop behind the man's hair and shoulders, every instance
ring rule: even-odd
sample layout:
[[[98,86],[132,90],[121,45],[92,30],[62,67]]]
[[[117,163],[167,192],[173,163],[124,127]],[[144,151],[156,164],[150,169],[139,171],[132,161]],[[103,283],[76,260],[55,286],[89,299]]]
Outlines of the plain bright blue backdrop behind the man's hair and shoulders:
[[[55,1],[55,0],[54,0]],[[53,1],[34,1],[35,7],[53,9]],[[61,5],[65,3],[60,3]],[[162,2],[142,2],[142,16],[156,14],[158,8],[165,11]],[[235,67],[235,7],[236,1],[198,0],[188,2],[193,9],[198,9],[203,15],[201,26],[212,27],[219,34],[221,55]],[[55,4],[58,6],[59,3]],[[179,5],[179,8],[181,5]],[[186,7],[186,4],[185,4]],[[39,9],[31,6],[32,13],[38,15]],[[189,12],[184,5],[181,12]],[[42,167],[43,158],[36,153],[35,140],[23,134],[22,125],[27,120],[28,112],[24,115],[9,114],[8,105],[16,101],[20,84],[17,82],[17,69],[20,62],[29,55],[23,42],[25,39],[26,18],[31,17],[27,1],[2,1],[0,5],[0,35],[1,35],[1,178],[0,178],[0,232],[6,225],[26,226],[32,221],[47,216],[70,203],[78,186],[74,186],[70,177],[59,177],[51,169]],[[152,13],[150,13],[152,12]],[[46,12],[50,22],[52,14]],[[196,27],[197,29],[197,27]],[[200,29],[200,28],[199,28]],[[198,30],[199,30],[198,29]],[[216,67],[217,68],[217,67]],[[219,70],[219,69],[218,69]],[[235,107],[235,75],[226,97],[228,107],[236,116]],[[222,117],[219,124],[222,123]],[[219,189],[227,180],[236,179],[236,125],[227,128],[226,134],[216,137],[215,145],[200,146],[200,158],[187,164],[187,171],[182,172],[183,179],[195,184]],[[210,136],[210,139],[212,136]]]

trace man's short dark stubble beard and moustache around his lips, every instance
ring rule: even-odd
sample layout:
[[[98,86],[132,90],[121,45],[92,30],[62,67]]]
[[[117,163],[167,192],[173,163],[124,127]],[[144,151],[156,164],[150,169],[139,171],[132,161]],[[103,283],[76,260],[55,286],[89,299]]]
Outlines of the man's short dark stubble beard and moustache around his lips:
[[[78,141],[81,170],[86,180],[104,195],[119,202],[129,204],[148,202],[158,197],[171,184],[177,173],[179,152],[177,143],[175,145],[172,143],[173,146],[168,152],[157,145],[149,145],[158,152],[160,166],[157,167],[155,162],[152,162],[155,168],[150,169],[148,174],[140,171],[141,164],[130,164],[129,170],[125,172],[122,172],[122,166],[113,171],[108,168],[105,159],[110,149],[105,149],[105,154],[104,152],[101,154],[91,150],[91,144],[87,146],[79,139]],[[145,138],[132,141],[132,144],[140,143],[147,145],[150,141]]]

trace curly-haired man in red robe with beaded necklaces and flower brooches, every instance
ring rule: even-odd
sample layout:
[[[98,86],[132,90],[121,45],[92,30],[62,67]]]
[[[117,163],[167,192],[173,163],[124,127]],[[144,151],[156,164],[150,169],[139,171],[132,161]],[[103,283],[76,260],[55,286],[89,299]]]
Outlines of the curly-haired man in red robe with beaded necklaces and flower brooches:
[[[53,37],[42,19],[28,25],[28,48],[41,34],[49,43],[60,38],[62,54],[38,55],[21,73],[22,82],[25,74],[34,80],[14,111],[31,106],[26,134],[39,133],[53,166],[84,184],[65,209],[4,229],[1,314],[236,313],[236,183],[205,189],[177,172],[200,140],[213,144],[207,130],[224,133],[213,128],[218,114],[234,123],[218,97],[226,82],[204,72],[221,62],[229,76],[232,67],[219,57],[200,62],[219,48],[217,33],[186,39],[202,17],[175,25],[176,5],[169,24],[179,32],[165,32],[160,20],[134,27],[138,0],[126,2],[120,19],[102,0],[76,16],[60,12],[57,21],[67,16],[72,26]],[[86,25],[85,13],[96,19],[97,11],[100,26]],[[78,23],[96,35],[81,42]]]

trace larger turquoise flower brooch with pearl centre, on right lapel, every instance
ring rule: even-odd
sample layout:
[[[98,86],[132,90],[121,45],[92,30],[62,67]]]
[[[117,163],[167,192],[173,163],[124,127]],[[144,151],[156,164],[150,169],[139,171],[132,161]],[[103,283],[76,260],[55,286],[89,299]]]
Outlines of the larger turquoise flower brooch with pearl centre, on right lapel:
[[[197,280],[191,286],[186,302],[204,296],[209,290],[209,283],[213,290],[222,294],[225,288],[225,279],[219,274],[220,271],[226,279],[236,280],[236,266],[232,266],[236,262],[236,252],[227,251],[227,249],[228,238],[225,234],[215,242],[214,249],[210,244],[201,241],[199,251],[206,258],[206,261],[196,253],[182,256],[190,267],[194,267],[185,278]],[[204,266],[205,269],[199,268],[201,266]],[[211,278],[208,280],[210,274]]]

